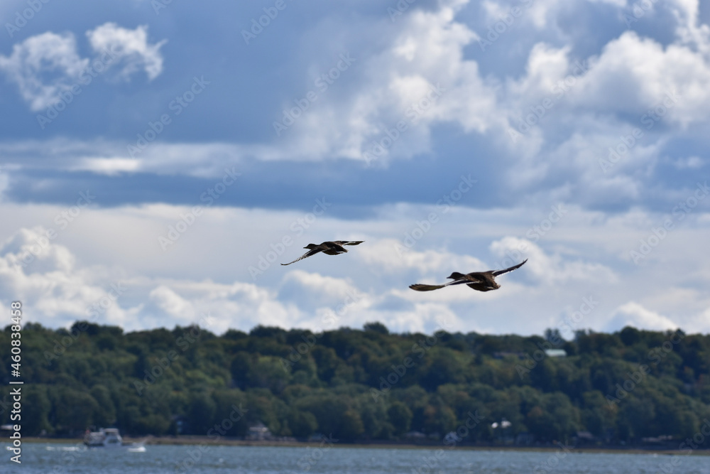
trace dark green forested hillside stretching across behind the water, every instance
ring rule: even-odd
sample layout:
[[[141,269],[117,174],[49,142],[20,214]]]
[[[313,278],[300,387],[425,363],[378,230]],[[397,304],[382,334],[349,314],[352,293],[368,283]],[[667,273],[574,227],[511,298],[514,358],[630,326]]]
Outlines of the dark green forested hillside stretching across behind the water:
[[[458,431],[461,443],[640,444],[710,429],[709,335],[624,328],[579,331],[570,341],[546,336],[389,334],[380,323],[315,334],[258,326],[222,336],[197,326],[123,333],[85,322],[71,331],[28,324],[22,431],[75,436],[117,426],[133,435],[204,435],[217,425],[224,436],[245,436],[261,421],[274,436],[332,433],[340,441],[413,431],[441,440]],[[10,348],[7,327],[4,386]],[[223,423],[230,416],[236,421]]]

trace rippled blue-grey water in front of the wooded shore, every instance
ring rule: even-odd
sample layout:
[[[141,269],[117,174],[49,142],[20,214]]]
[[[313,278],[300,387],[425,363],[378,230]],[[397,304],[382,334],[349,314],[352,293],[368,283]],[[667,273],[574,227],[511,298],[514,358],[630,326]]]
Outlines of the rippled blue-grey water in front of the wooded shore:
[[[1,445],[0,473],[692,473],[710,474],[710,456],[252,446],[146,446],[84,449],[77,444],[23,443],[22,465]],[[194,459],[194,460],[193,460]]]

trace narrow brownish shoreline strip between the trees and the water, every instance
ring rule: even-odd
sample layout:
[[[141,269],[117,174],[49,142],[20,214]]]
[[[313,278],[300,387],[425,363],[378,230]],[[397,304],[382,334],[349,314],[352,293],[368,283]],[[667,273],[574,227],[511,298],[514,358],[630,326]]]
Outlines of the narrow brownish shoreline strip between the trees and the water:
[[[307,448],[320,446],[322,441],[276,441],[276,440],[244,440],[235,438],[224,438],[220,437],[214,439],[214,437],[209,436],[147,436],[143,438],[132,438],[129,436],[124,436],[124,443],[140,443],[145,441],[146,446],[197,446],[197,445],[210,445],[210,446],[264,446],[264,447],[288,447],[288,448]],[[23,442],[27,443],[56,443],[56,444],[77,444],[82,443],[82,438],[40,438],[40,437],[27,437],[23,438]],[[442,443],[403,443],[403,442],[373,442],[373,443],[333,443],[330,445],[333,448],[370,448],[370,449],[457,449],[464,451],[529,451],[529,452],[555,452],[559,451],[559,445],[552,446],[444,446]],[[589,454],[662,454],[665,456],[710,456],[710,449],[695,449],[690,453],[687,450],[680,449],[669,449],[669,448],[643,448],[640,446],[635,447],[616,447],[616,446],[577,446],[577,447],[567,447],[565,446],[565,451],[574,454],[589,453]],[[101,448],[95,448],[101,449]]]

